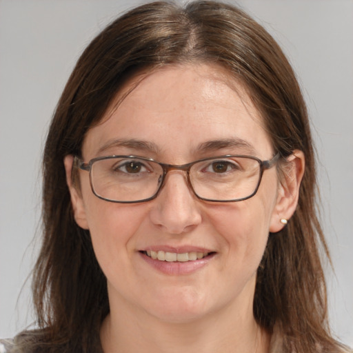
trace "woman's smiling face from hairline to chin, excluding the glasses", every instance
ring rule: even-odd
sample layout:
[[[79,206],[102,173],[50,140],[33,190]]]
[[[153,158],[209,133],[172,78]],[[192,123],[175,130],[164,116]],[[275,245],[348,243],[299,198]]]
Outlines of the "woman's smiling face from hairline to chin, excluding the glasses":
[[[209,65],[169,66],[149,74],[89,130],[83,160],[113,154],[170,164],[223,154],[271,159],[274,151],[259,114],[241,85],[232,81],[231,88],[225,77]],[[183,322],[252,310],[256,269],[269,231],[279,223],[276,168],[265,170],[255,196],[230,203],[197,199],[180,170],[168,173],[156,199],[134,204],[103,201],[92,193],[88,172],[81,170],[80,179],[75,216],[90,230],[112,311],[124,307]],[[190,253],[210,255],[168,262],[150,258],[151,250],[161,256],[189,253],[190,259]]]

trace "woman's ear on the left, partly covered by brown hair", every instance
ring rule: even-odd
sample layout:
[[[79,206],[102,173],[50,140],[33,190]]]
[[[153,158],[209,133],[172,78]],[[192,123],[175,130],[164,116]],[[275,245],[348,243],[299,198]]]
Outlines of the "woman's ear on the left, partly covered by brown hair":
[[[79,225],[79,227],[88,230],[88,221],[85,213],[85,207],[83,205],[83,199],[81,196],[81,191],[77,190],[77,185],[72,183],[72,165],[74,163],[74,156],[68,154],[63,159],[63,164],[65,165],[66,172],[66,183],[71,196],[72,210],[74,211],[74,219]]]

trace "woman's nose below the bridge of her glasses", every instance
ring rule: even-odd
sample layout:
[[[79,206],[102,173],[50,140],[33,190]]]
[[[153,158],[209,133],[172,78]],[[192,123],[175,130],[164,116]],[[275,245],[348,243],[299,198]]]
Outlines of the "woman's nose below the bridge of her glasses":
[[[188,186],[185,172],[169,172],[153,202],[150,219],[165,232],[183,234],[201,223],[199,201]]]

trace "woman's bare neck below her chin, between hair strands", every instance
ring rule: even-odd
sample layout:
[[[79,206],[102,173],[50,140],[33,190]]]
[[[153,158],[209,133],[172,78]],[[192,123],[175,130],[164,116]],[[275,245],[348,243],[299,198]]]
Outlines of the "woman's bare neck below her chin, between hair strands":
[[[139,310],[111,313],[101,327],[105,353],[266,353],[270,335],[261,329],[248,307],[225,307],[215,313],[183,323],[161,321]],[[250,311],[250,313],[249,313]]]

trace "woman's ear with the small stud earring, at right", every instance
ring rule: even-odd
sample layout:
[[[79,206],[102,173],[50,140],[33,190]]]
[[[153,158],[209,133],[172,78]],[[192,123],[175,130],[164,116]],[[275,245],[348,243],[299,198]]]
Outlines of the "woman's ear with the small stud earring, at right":
[[[285,224],[281,220],[288,221],[299,199],[299,188],[305,170],[305,157],[302,151],[294,150],[283,165],[283,172],[279,183],[279,191],[276,205],[270,220],[270,232],[275,233],[283,229]]]

